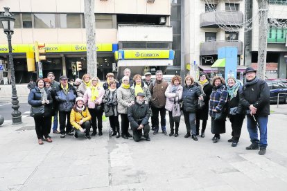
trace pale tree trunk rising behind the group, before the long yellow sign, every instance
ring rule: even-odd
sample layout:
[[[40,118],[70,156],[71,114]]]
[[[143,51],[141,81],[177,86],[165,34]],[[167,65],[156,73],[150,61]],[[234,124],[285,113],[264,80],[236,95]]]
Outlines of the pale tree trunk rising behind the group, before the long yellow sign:
[[[94,12],[94,0],[85,0],[85,27],[87,38],[87,73],[97,76],[97,60],[96,60],[96,20]]]

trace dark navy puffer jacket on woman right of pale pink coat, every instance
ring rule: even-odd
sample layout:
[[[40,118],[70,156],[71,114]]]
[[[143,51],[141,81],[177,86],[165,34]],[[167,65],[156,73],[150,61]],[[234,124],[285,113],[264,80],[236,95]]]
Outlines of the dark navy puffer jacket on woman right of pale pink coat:
[[[192,84],[189,87],[184,86],[182,91],[183,110],[189,113],[195,113],[198,109],[198,97],[200,95],[200,89],[196,84]]]

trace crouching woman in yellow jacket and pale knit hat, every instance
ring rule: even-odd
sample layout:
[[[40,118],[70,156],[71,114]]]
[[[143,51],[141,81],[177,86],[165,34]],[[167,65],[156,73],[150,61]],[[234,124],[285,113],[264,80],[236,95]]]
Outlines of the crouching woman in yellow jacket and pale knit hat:
[[[79,134],[85,134],[85,138],[91,139],[89,136],[89,130],[91,129],[91,114],[89,109],[84,105],[84,99],[82,97],[76,98],[76,103],[71,110],[70,122],[75,128],[75,137],[78,138]]]

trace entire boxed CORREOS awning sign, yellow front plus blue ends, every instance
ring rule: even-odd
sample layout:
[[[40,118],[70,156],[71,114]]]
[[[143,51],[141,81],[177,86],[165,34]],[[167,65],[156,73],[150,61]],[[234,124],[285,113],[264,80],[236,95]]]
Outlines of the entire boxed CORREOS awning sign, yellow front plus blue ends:
[[[174,59],[173,50],[119,50],[115,53],[116,60],[137,59]]]

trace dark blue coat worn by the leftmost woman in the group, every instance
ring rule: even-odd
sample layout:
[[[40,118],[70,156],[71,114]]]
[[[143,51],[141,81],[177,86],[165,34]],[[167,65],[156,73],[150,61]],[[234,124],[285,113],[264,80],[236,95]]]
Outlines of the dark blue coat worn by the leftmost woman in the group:
[[[53,99],[50,91],[46,88],[45,91],[47,94],[47,100],[49,100],[49,104],[44,104],[44,116],[48,117],[53,115]],[[39,107],[43,105],[41,92],[38,87],[35,87],[35,89],[30,91],[28,96],[28,104],[30,104],[32,107]]]

